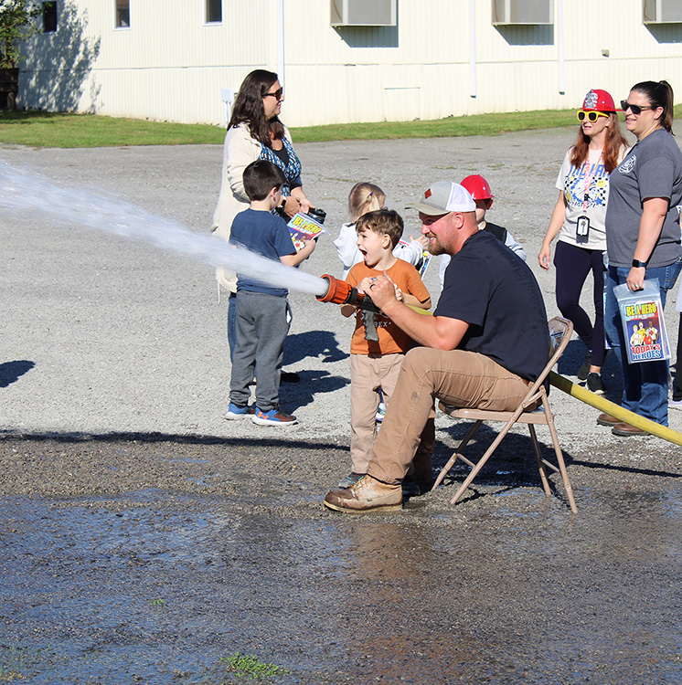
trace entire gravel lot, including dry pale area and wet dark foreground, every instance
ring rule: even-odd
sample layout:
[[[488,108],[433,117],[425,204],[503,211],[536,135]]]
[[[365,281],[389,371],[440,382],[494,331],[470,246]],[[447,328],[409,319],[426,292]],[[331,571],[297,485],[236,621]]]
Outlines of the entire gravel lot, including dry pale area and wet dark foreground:
[[[332,237],[359,180],[416,234],[406,206],[424,184],[484,174],[489,216],[526,248],[553,315],[536,255],[573,134],[296,150]],[[206,233],[221,149],[0,145],[0,159]],[[286,363],[301,382],[282,385],[282,406],[300,424],[229,422],[212,269],[35,216],[0,231],[0,680],[210,685],[236,678],[220,659],[237,651],[292,683],[682,680],[678,447],[613,437],[555,390],[577,516],[560,481],[543,498],[521,429],[456,507],[448,479],[400,514],[324,511],[348,460],[352,322],[335,305],[290,297]],[[332,237],[306,271],[339,274]],[[559,373],[583,353],[571,342]],[[605,381],[617,399],[613,361]],[[682,413],[670,419],[682,429]],[[442,464],[464,427],[437,427]]]

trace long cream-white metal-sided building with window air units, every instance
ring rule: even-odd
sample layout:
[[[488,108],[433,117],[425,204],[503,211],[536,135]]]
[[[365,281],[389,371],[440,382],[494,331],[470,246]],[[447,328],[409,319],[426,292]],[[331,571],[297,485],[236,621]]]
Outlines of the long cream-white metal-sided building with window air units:
[[[581,105],[667,79],[682,0],[56,0],[20,106],[225,122],[226,90],[280,74],[290,126]]]

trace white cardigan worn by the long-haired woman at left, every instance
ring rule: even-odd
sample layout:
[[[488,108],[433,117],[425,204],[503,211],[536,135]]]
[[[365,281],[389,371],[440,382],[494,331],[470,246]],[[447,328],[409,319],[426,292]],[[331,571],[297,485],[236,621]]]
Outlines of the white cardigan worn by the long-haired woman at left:
[[[284,127],[284,135],[292,142],[289,130]],[[262,145],[251,137],[249,125],[240,123],[228,130],[223,144],[222,176],[218,205],[213,212],[211,231],[229,240],[234,217],[249,208],[249,197],[244,190],[242,176],[244,169],[261,156]],[[237,291],[237,275],[228,269],[216,269],[218,283],[230,292]]]

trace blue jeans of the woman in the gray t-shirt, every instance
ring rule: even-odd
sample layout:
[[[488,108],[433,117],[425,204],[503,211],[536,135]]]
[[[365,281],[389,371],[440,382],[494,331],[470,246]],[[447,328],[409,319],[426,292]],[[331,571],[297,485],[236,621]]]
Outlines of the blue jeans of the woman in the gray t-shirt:
[[[667,267],[646,269],[646,280],[658,279],[661,304],[664,307],[666,306],[667,291],[675,285],[680,269],[682,269],[682,260],[680,259]],[[610,266],[606,281],[604,328],[606,337],[613,347],[613,353],[623,367],[623,400],[621,404],[625,409],[629,409],[635,414],[650,418],[662,426],[667,426],[667,360],[664,362],[627,363],[623,323],[613,288],[624,283],[629,273],[629,267]]]

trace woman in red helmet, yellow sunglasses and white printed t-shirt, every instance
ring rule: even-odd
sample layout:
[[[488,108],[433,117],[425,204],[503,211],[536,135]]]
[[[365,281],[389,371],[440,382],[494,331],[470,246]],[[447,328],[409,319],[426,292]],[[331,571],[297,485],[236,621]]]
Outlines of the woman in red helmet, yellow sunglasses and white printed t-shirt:
[[[554,254],[557,306],[587,345],[578,378],[587,381],[588,389],[598,395],[606,390],[601,372],[608,181],[627,150],[615,112],[613,98],[606,90],[590,90],[585,96],[578,111],[578,138],[561,164],[557,177],[559,199],[538,254],[540,267],[549,270],[551,242],[559,237]],[[590,271],[594,281],[594,324],[580,305],[582,286]]]

